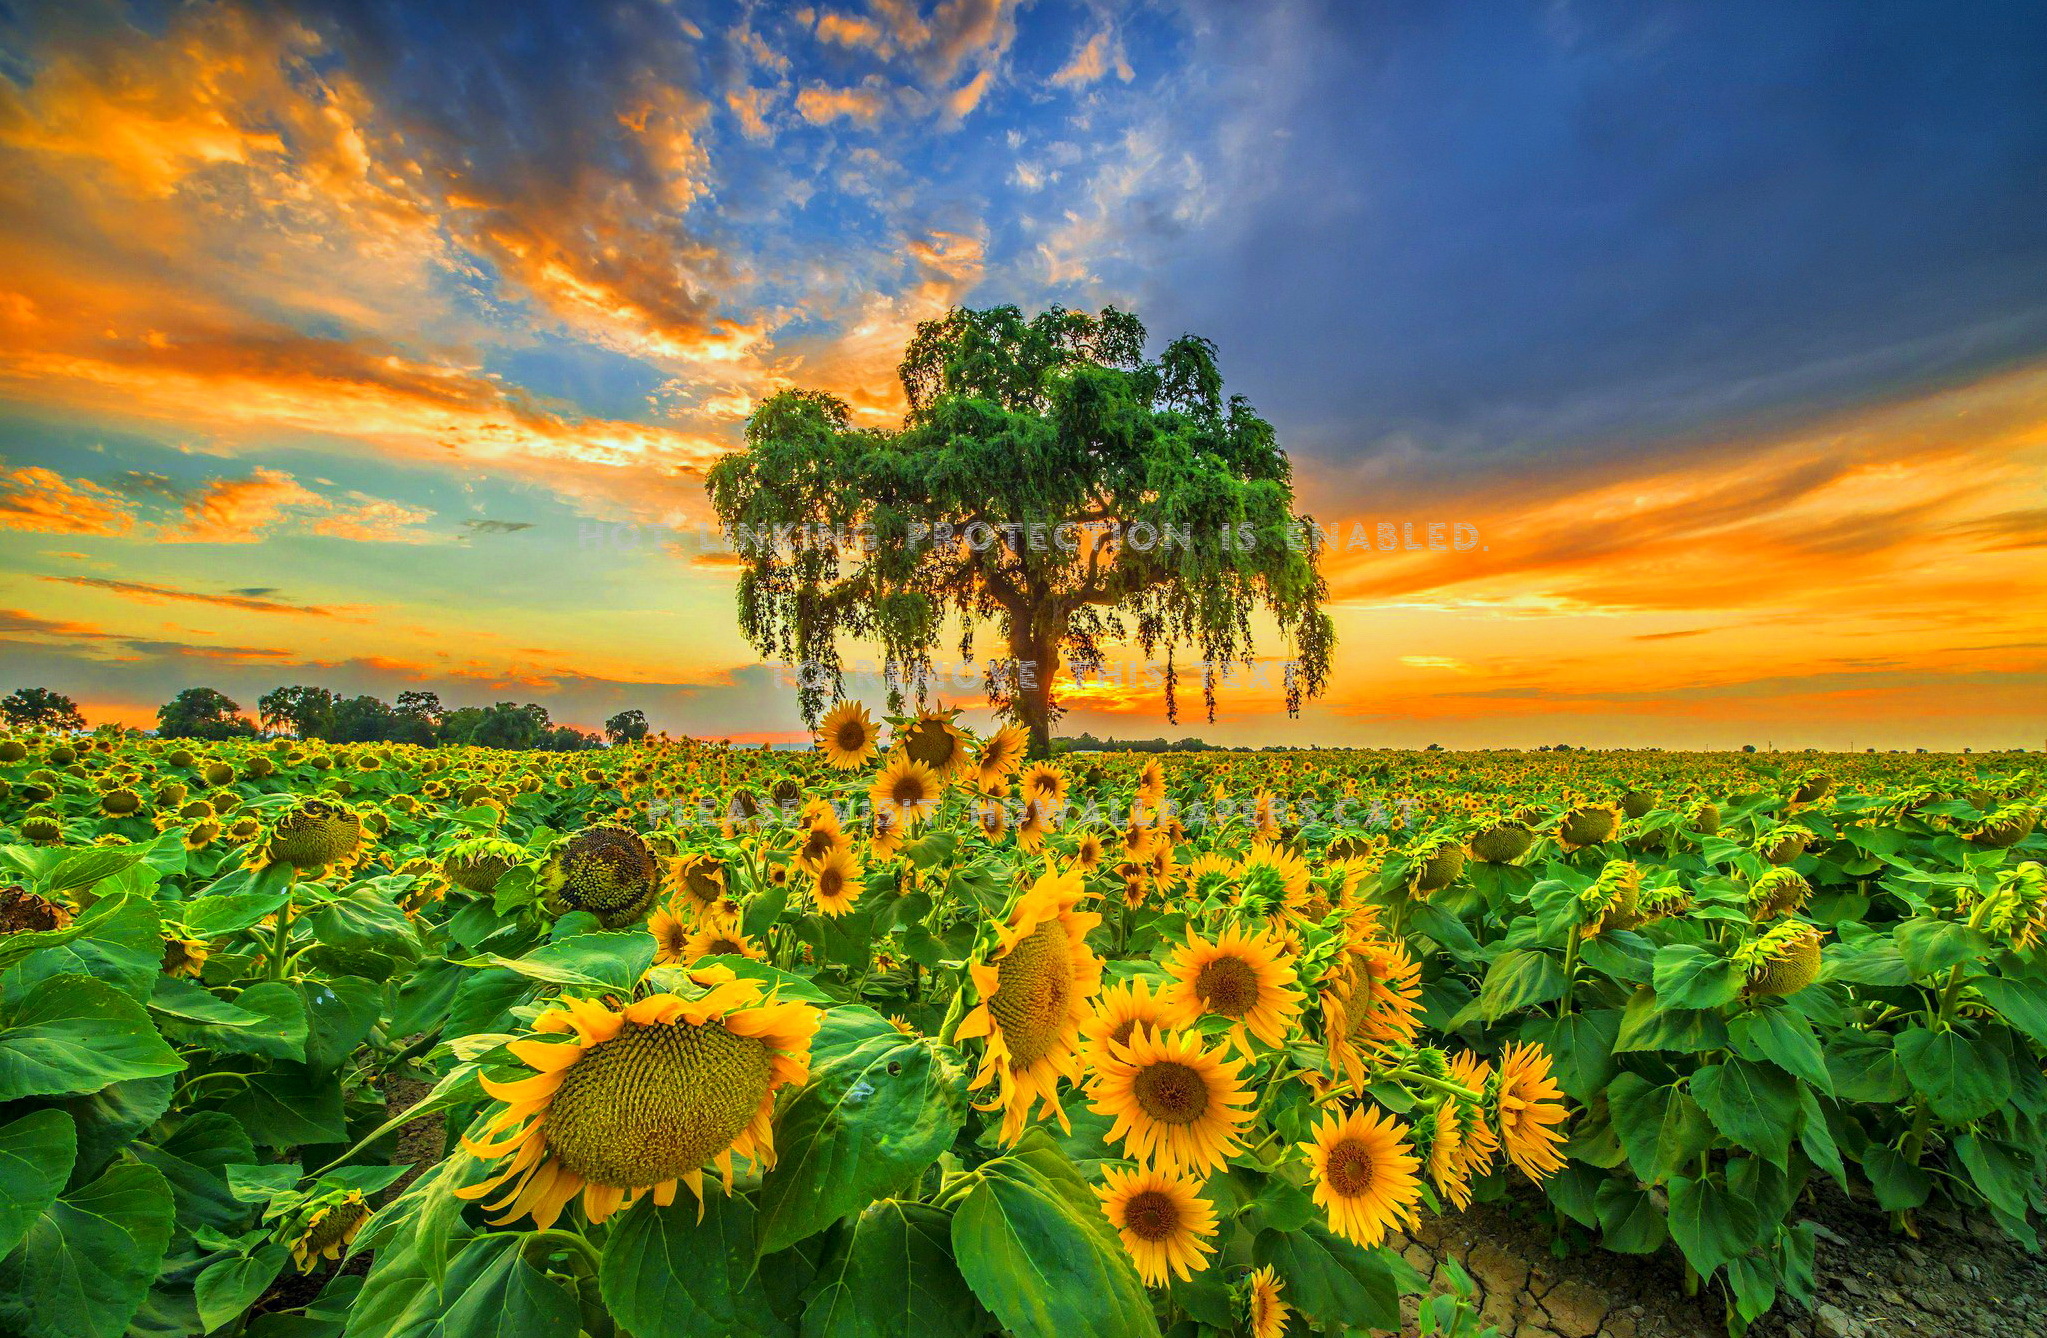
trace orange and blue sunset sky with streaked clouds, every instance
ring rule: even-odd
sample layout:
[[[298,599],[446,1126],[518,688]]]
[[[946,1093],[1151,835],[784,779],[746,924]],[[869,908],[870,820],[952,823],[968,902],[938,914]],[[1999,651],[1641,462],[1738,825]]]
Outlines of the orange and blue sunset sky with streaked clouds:
[[[1339,646],[1064,732],[2039,749],[2043,88],[1996,0],[0,0],[0,689],[802,739],[704,469],[1114,303],[1275,423]]]

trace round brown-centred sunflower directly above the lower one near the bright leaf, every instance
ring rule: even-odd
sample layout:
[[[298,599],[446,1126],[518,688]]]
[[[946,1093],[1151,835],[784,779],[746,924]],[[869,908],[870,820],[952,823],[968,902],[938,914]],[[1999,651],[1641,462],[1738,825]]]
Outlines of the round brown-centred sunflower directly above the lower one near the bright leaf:
[[[1114,1115],[1107,1140],[1144,1166],[1206,1174],[1240,1146],[1257,1095],[1238,1078],[1245,1060],[1224,1060],[1193,1031],[1134,1027],[1126,1043],[1095,1056],[1087,1090],[1097,1115]]]

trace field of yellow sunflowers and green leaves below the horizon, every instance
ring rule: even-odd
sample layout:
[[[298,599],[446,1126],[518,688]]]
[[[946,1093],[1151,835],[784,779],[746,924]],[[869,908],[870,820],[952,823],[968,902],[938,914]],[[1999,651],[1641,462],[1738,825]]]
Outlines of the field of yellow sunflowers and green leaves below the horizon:
[[[2022,757],[1024,745],[0,741],[0,1332],[1398,1332],[1474,1201],[1742,1332],[1820,1180],[2039,1244]]]

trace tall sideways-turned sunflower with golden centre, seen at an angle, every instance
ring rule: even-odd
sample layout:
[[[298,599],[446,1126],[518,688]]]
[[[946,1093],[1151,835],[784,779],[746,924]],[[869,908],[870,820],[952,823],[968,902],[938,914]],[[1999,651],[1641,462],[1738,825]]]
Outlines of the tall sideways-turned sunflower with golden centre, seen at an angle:
[[[1099,915],[1075,910],[1079,874],[1044,874],[995,925],[995,947],[968,968],[981,1002],[960,1021],[960,1039],[987,1037],[981,1072],[968,1084],[995,1082],[981,1109],[1003,1111],[1003,1142],[1024,1135],[1032,1107],[1044,1103],[1066,1125],[1058,1080],[1081,1080],[1079,1039],[1087,1002],[1101,990],[1101,957],[1087,947]]]

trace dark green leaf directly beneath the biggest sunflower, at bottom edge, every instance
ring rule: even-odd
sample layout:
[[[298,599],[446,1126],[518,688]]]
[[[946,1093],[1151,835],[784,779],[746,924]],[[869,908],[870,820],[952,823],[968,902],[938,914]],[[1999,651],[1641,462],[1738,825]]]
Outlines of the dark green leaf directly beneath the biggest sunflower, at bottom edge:
[[[669,1207],[649,1195],[612,1228],[598,1273],[612,1318],[633,1338],[788,1338],[753,1275],[753,1205],[712,1191],[702,1207],[698,1221],[688,1195]]]

